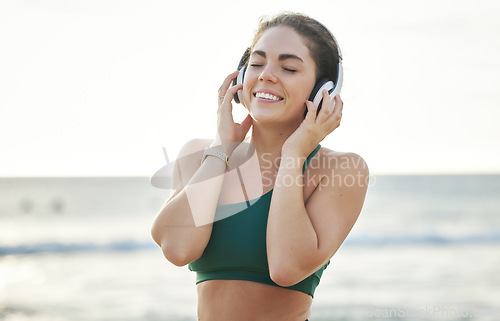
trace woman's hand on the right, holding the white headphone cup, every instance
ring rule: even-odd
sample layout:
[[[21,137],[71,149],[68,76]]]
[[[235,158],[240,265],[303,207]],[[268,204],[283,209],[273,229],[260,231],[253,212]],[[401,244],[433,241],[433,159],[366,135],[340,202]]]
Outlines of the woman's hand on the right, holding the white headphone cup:
[[[323,103],[318,113],[316,106],[306,101],[306,117],[283,144],[282,154],[307,157],[328,134],[340,126],[343,105],[339,95],[332,99],[327,90],[323,91]]]

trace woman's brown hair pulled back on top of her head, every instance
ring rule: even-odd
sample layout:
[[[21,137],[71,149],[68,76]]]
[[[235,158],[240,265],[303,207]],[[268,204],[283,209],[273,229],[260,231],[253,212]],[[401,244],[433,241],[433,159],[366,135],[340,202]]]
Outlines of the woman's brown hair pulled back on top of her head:
[[[316,62],[316,81],[322,78],[336,79],[337,64],[342,58],[339,57],[337,43],[325,26],[303,14],[282,13],[271,19],[261,19],[250,52],[266,30],[282,25],[293,28],[306,40],[306,46]]]

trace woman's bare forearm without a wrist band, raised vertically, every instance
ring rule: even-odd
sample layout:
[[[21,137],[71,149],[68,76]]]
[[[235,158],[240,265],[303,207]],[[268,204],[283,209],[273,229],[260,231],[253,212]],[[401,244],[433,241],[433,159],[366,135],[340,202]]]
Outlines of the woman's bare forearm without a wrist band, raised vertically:
[[[304,204],[304,158],[282,155],[276,177],[267,227],[267,252],[271,273],[294,274],[308,270],[318,249],[318,237]],[[304,272],[305,273],[305,272]],[[306,276],[306,275],[305,275]]]

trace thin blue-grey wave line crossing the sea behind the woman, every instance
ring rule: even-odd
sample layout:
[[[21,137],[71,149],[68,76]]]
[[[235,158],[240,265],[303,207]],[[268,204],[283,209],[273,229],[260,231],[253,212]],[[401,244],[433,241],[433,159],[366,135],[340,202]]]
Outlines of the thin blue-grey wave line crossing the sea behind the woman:
[[[500,232],[447,236],[440,234],[420,235],[352,235],[343,246],[412,246],[412,245],[466,245],[500,244]],[[0,255],[36,253],[76,253],[76,252],[133,252],[156,249],[153,241],[118,240],[110,243],[38,243],[0,246]]]

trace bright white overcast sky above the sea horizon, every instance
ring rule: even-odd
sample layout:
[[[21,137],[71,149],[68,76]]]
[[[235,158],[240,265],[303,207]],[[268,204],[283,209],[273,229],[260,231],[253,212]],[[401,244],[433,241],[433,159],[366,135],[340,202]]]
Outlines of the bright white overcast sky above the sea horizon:
[[[282,11],[342,49],[342,124],[322,146],[375,175],[500,173],[498,2],[172,3],[0,0],[0,176],[152,175],[163,147],[214,137],[217,89]]]

